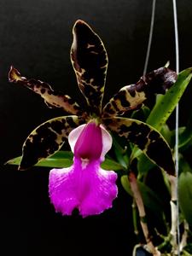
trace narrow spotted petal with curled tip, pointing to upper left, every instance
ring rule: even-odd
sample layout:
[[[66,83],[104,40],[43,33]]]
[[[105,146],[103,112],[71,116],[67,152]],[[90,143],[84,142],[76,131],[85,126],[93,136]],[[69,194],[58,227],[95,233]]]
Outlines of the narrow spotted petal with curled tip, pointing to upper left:
[[[70,96],[55,92],[49,84],[40,80],[26,79],[20,75],[15,67],[10,67],[9,81],[26,86],[40,95],[49,108],[63,108],[64,111],[73,114],[81,114],[81,108]]]

